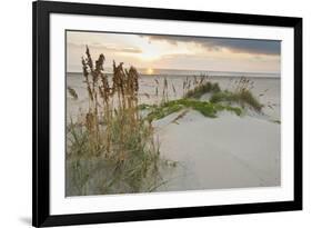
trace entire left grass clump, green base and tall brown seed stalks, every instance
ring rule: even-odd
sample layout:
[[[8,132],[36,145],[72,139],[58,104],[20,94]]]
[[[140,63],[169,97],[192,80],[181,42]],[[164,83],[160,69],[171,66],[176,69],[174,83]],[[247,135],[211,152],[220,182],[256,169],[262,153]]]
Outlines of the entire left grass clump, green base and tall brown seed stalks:
[[[160,169],[173,163],[160,157],[153,128],[139,115],[137,69],[113,62],[110,82],[104,59],[93,61],[88,47],[82,58],[89,110],[67,125],[67,196],[155,190],[164,182]]]

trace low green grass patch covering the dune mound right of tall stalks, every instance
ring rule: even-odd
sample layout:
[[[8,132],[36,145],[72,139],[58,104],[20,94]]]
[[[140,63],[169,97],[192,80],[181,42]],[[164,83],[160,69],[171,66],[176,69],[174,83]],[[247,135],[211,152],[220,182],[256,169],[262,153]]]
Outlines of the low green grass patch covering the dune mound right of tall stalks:
[[[142,103],[138,108],[140,110],[147,110],[147,119],[149,122],[158,119],[162,119],[173,112],[178,112],[182,109],[193,109],[202,113],[204,117],[215,118],[220,111],[230,111],[236,116],[242,116],[246,108],[252,108],[258,112],[261,112],[262,105],[252,95],[251,89],[253,82],[249,79],[241,78],[236,88],[233,91],[221,90],[218,82],[205,81],[205,77],[200,77],[200,80],[194,77],[193,81],[187,78],[183,81],[183,98],[177,100],[161,99],[159,105]],[[159,82],[158,82],[159,83]],[[165,82],[167,83],[167,82]],[[191,88],[193,85],[193,88]],[[163,96],[168,93],[164,87]],[[202,101],[200,98],[210,93],[209,101]]]

